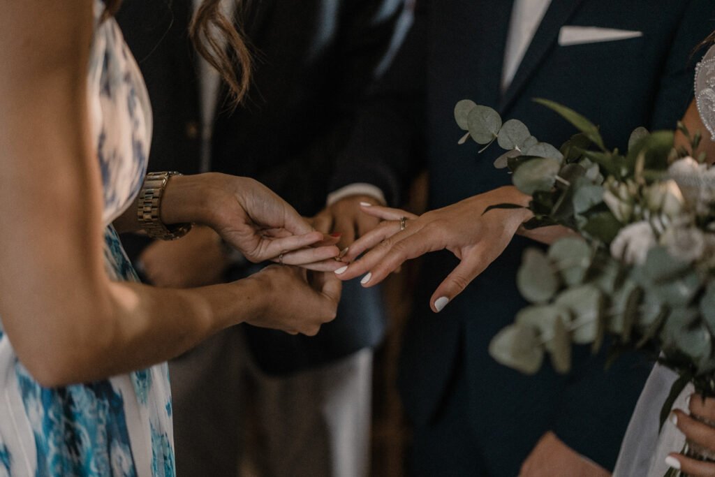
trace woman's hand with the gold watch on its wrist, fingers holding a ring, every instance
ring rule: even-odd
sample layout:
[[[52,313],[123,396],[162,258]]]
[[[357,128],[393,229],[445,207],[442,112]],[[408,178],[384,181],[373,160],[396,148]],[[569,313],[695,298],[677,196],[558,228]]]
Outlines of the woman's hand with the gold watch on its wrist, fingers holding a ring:
[[[177,176],[164,192],[165,223],[212,227],[252,262],[273,260],[312,270],[335,270],[340,251],[293,207],[256,180],[227,174]]]

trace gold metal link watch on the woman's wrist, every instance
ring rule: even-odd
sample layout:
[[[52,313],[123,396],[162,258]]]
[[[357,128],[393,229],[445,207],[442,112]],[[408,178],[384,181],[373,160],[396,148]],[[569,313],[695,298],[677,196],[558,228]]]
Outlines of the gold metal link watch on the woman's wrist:
[[[162,197],[169,179],[179,172],[149,172],[144,177],[144,184],[139,190],[137,200],[137,220],[149,237],[159,240],[176,240],[189,233],[192,224],[172,224],[169,227],[162,222]]]

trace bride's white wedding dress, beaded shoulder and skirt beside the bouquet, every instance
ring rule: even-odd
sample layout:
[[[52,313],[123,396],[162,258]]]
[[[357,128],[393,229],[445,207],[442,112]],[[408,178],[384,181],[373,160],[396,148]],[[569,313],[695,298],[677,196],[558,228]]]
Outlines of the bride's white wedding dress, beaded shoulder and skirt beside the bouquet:
[[[700,118],[711,137],[715,138],[715,46],[698,64],[695,92]],[[665,463],[666,456],[682,450],[685,437],[673,423],[666,421],[659,430],[661,408],[677,378],[676,373],[668,368],[654,366],[633,410],[613,477],[663,477],[669,469]],[[693,386],[687,385],[676,398],[673,408],[687,410],[686,398],[692,393]]]

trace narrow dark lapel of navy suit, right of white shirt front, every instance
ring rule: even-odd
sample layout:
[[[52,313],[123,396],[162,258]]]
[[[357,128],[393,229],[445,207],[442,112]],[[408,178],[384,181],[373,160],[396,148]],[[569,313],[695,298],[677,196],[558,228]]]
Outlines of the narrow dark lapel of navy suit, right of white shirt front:
[[[538,66],[556,45],[561,26],[566,24],[581,3],[583,3],[583,0],[553,0],[551,2],[546,15],[541,21],[541,25],[531,40],[531,45],[529,45],[519,68],[516,70],[513,81],[501,99],[499,107],[501,112],[506,112],[516,101],[521,90],[529,82]]]

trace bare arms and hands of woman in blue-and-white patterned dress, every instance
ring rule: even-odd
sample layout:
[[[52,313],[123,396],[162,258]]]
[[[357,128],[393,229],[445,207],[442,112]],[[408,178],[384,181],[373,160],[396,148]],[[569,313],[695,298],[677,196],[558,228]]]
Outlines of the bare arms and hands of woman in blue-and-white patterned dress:
[[[86,101],[92,4],[6,2],[0,16],[0,315],[21,362],[54,387],[146,368],[237,323],[317,333],[335,317],[332,274],[275,265],[192,290],[109,280]],[[322,233],[255,181],[174,177],[166,192],[165,222],[208,225],[251,260],[338,253],[307,249]],[[117,226],[133,230],[131,214]]]

